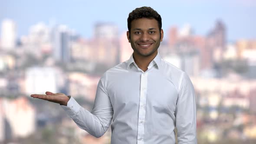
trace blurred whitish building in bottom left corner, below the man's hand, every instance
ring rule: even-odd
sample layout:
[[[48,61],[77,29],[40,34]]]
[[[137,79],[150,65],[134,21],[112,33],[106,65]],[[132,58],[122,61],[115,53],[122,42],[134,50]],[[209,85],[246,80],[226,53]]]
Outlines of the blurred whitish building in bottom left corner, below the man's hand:
[[[36,131],[36,111],[27,98],[1,99],[0,110],[0,141],[28,137]]]

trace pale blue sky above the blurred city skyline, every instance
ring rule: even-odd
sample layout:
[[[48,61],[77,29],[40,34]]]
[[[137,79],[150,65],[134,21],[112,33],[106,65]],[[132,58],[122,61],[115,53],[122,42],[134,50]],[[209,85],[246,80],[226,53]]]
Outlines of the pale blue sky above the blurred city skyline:
[[[227,39],[256,39],[256,0],[0,0],[0,21],[15,21],[18,36],[29,27],[49,21],[66,24],[85,38],[97,22],[127,30],[128,13],[149,6],[162,17],[163,29],[189,23],[197,35],[206,35],[217,19],[227,28]]]

